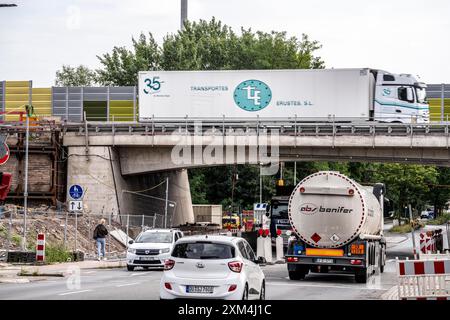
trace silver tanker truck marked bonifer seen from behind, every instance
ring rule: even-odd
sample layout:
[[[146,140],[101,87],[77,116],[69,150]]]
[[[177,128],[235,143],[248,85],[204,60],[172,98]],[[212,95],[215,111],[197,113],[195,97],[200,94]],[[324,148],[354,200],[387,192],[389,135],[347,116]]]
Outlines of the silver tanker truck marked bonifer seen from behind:
[[[320,171],[300,181],[288,204],[289,278],[338,271],[353,273],[356,282],[365,283],[377,269],[383,272],[384,190],[381,183],[362,186],[334,171]]]

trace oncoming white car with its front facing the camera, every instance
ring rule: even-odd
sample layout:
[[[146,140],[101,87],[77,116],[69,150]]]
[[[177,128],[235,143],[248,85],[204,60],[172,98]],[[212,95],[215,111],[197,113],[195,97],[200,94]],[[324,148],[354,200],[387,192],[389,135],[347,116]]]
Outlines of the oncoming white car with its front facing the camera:
[[[150,229],[141,232],[135,241],[130,240],[127,252],[127,269],[135,267],[164,268],[175,242],[183,237],[176,229]]]

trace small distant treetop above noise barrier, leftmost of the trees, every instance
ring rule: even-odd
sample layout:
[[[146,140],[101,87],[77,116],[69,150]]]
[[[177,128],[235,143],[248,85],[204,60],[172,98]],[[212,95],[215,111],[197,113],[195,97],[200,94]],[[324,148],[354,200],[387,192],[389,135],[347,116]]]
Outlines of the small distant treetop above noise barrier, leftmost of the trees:
[[[95,82],[95,72],[83,65],[76,68],[69,65],[63,65],[61,70],[56,71],[55,84],[57,86],[90,87],[94,85]]]

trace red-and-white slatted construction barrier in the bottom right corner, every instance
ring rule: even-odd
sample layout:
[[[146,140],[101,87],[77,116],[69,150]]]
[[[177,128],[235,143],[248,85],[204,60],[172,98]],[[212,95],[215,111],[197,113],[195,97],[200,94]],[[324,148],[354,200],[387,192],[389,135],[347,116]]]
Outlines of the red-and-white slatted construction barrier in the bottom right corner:
[[[397,259],[400,300],[450,299],[450,259]]]

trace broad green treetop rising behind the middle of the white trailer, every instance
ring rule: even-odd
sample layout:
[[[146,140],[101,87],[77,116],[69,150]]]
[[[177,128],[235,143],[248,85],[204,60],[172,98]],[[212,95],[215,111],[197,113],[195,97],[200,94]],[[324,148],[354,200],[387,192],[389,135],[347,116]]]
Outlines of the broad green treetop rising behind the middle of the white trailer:
[[[323,68],[321,48],[303,34],[302,39],[286,32],[270,33],[230,27],[214,18],[187,22],[185,29],[164,38],[161,68],[164,70],[240,70]]]

